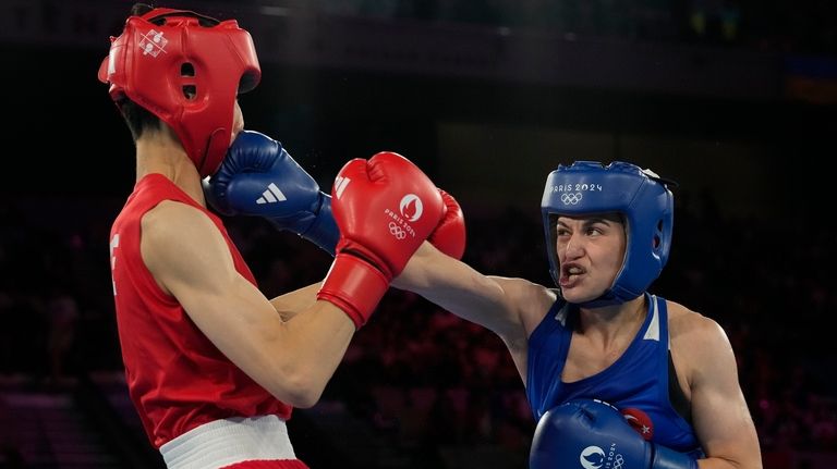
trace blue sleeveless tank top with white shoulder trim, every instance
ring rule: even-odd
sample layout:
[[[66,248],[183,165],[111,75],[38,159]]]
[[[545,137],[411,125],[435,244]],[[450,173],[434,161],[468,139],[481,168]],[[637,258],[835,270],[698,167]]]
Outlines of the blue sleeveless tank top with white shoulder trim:
[[[529,337],[526,396],[539,419],[574,398],[597,398],[617,408],[636,408],[651,418],[654,443],[700,457],[694,430],[668,395],[668,311],[666,300],[645,294],[648,313],[628,349],[611,366],[572,383],[561,381],[578,308],[558,299]]]

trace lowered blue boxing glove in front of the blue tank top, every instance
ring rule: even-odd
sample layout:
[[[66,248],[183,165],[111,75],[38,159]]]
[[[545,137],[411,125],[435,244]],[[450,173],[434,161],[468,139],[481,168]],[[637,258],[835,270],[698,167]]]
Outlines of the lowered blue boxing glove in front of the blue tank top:
[[[570,400],[541,417],[529,465],[530,469],[698,469],[691,456],[643,440],[614,406],[589,399]]]

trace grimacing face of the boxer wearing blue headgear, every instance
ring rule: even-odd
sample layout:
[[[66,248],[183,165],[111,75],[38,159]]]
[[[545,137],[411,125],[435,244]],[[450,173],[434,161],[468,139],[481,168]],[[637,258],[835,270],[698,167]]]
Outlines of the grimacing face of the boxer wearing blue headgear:
[[[570,303],[598,298],[622,268],[626,246],[624,225],[616,213],[558,217],[555,248],[563,298]]]

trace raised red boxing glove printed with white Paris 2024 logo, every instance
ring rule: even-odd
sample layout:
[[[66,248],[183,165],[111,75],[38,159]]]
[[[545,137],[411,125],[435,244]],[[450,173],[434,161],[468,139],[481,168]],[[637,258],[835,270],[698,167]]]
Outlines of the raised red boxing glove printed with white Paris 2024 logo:
[[[331,197],[341,235],[317,298],[337,305],[360,328],[436,229],[444,202],[415,164],[386,151],[349,161],[335,178]]]

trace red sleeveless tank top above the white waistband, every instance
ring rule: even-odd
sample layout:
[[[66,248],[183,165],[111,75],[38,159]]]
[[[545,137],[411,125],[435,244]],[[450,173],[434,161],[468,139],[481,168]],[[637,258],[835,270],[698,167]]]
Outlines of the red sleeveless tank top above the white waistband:
[[[141,221],[162,200],[206,213],[227,240],[235,269],[256,284],[218,217],[161,174],[148,174],[136,183],[111,227],[110,264],[129,393],[151,444],[159,448],[201,424],[230,417],[277,415],[288,420],[291,406],[221,354],[145,267]]]

